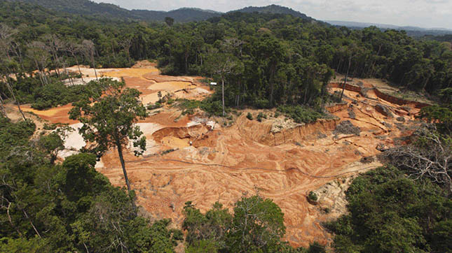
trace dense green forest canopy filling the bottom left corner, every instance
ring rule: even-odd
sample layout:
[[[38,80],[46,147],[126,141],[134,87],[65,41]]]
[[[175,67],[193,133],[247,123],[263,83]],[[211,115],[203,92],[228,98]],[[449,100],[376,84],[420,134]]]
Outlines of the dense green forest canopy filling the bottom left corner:
[[[38,150],[28,140],[33,124],[1,122],[0,138],[13,133],[6,148],[14,150],[0,152],[1,252],[174,252],[182,231],[139,217],[133,191],[98,173],[94,154],[51,164],[53,140],[42,136]]]

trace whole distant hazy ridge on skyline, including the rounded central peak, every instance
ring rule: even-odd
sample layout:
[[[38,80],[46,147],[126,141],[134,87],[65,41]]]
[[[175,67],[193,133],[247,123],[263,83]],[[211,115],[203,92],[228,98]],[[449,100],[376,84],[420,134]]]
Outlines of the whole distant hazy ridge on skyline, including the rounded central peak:
[[[1,0],[0,0],[1,1]],[[146,20],[163,22],[165,17],[172,17],[176,22],[191,22],[207,20],[211,17],[219,17],[225,13],[214,10],[203,10],[200,8],[179,8],[170,11],[158,10],[127,10],[111,3],[95,3],[89,0],[6,0],[20,1],[48,8],[50,10],[62,11],[64,13],[78,15],[97,15],[102,17],[112,17],[118,19]],[[271,13],[288,14],[294,17],[301,17],[303,20],[317,21],[312,17],[299,11],[292,10],[284,6],[270,5],[263,7],[249,6],[240,10],[232,10],[228,13]]]

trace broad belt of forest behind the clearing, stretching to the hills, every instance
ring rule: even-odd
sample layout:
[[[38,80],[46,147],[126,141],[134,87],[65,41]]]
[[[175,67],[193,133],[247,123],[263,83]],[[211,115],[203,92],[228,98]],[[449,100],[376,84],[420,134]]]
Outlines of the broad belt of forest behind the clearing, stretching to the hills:
[[[201,22],[149,24],[8,1],[0,7],[2,80],[10,77],[19,103],[36,101],[36,89],[69,78],[59,71],[66,66],[125,67],[139,59],[158,59],[164,73],[216,79],[222,92],[214,99],[226,107],[322,108],[334,71],[431,94],[452,82],[450,43],[415,40],[404,31],[350,30],[282,14],[228,13]],[[12,97],[5,86],[4,99]]]

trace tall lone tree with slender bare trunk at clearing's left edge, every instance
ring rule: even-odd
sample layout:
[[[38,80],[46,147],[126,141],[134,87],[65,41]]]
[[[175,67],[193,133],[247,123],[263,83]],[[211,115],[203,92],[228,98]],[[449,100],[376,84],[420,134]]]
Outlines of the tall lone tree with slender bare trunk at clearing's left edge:
[[[73,104],[69,112],[71,120],[79,120],[83,127],[79,130],[83,138],[93,143],[91,152],[101,157],[109,148],[118,149],[123,167],[125,184],[130,191],[130,183],[125,171],[123,146],[133,141],[135,155],[146,150],[146,137],[135,126],[135,122],[147,116],[146,108],[139,100],[137,89],[125,88],[124,82],[100,79],[88,84],[88,94],[84,99]]]

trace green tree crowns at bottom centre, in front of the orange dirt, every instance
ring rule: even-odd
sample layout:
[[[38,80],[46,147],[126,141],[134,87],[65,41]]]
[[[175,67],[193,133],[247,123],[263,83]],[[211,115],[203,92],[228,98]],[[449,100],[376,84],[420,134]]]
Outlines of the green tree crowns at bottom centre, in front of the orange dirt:
[[[270,199],[242,196],[233,215],[220,203],[205,214],[185,203],[187,252],[299,252],[282,242],[284,214]],[[304,251],[303,251],[304,252]]]

